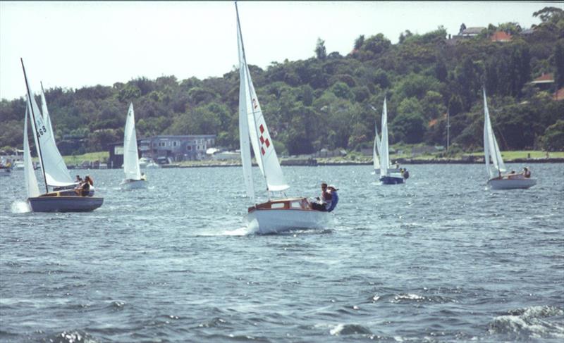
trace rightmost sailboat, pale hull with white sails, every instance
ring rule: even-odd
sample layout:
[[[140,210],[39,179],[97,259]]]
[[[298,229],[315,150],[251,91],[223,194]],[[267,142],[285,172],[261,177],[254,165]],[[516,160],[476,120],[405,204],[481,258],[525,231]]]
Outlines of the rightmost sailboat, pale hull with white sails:
[[[490,166],[491,163],[494,168]],[[502,174],[507,172],[501,151],[499,150],[496,135],[491,127],[489,119],[488,102],[486,99],[486,89],[484,88],[484,161],[486,162],[486,170],[488,171],[488,185],[491,189],[515,189],[529,188],[537,185],[537,180],[531,178],[530,171],[525,168],[523,173]]]

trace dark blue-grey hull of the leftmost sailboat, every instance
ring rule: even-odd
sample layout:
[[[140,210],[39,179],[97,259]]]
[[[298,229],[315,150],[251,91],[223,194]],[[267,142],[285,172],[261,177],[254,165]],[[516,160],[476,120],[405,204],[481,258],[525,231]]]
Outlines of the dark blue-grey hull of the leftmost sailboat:
[[[90,212],[104,203],[99,197],[33,197],[28,198],[34,212]]]

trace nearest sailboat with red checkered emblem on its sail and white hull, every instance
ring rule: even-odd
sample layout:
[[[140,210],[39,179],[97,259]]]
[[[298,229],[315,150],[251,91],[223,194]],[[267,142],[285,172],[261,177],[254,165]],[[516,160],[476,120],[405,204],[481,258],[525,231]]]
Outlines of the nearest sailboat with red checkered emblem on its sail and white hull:
[[[282,168],[274,149],[274,143],[266,127],[255,87],[252,85],[243,34],[237,12],[237,42],[239,49],[239,139],[240,154],[243,165],[243,177],[247,196],[255,204],[248,208],[247,226],[254,232],[262,234],[277,233],[293,229],[320,229],[326,226],[329,213],[316,211],[309,208],[309,201],[305,197],[288,198],[283,192],[290,186],[284,179]],[[266,182],[266,192],[269,200],[257,204],[255,202],[255,189],[252,182],[252,165],[250,146],[255,153],[255,158],[262,177]],[[281,199],[271,199],[271,194],[279,193]],[[336,201],[334,201],[336,203]]]

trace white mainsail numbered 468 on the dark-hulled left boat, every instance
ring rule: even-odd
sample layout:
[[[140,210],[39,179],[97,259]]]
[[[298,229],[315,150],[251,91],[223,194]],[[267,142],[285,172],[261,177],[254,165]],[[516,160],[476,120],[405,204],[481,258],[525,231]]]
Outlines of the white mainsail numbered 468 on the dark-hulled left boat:
[[[33,94],[31,88],[27,92],[28,94]],[[35,146],[40,151],[39,161],[44,171],[47,185],[53,187],[74,185],[73,179],[66,168],[65,161],[63,161],[63,156],[61,156],[55,144],[55,139],[52,137],[53,132],[47,128],[47,123],[44,122],[43,116],[40,115],[41,112],[39,112],[39,106],[37,106],[35,97],[31,96],[31,98],[27,96],[27,101],[30,103],[30,111],[32,111],[35,118],[35,124],[31,125],[31,127]]]

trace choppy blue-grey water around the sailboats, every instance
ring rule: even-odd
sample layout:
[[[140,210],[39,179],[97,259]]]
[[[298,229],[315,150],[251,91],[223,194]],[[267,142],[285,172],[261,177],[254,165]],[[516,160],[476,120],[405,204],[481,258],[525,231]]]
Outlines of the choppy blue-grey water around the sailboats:
[[[288,195],[326,180],[341,201],[327,230],[267,236],[243,227],[240,168],[147,170],[129,192],[90,170],[104,205],[56,214],[21,213],[15,171],[0,341],[562,342],[563,165],[496,192],[481,165],[409,169],[380,186],[370,166],[283,168]]]

